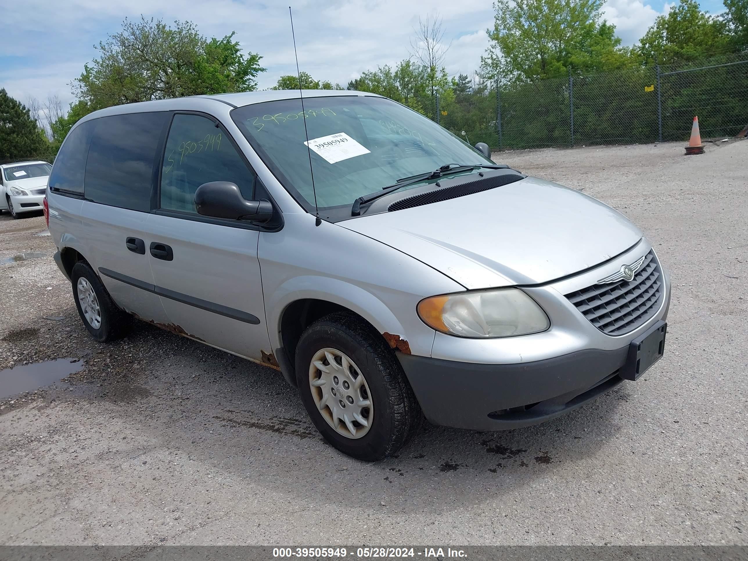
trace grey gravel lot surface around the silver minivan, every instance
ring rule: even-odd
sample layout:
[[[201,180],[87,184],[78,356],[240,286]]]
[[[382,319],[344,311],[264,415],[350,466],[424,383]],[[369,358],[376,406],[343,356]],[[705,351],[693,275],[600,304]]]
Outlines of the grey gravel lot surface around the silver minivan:
[[[0,264],[0,368],[84,362],[0,402],[0,545],[747,545],[748,141],[682,153],[496,157],[646,231],[672,274],[663,361],[549,423],[426,427],[375,465],[275,370],[145,324],[95,343],[43,217],[1,216],[0,262],[43,257]]]

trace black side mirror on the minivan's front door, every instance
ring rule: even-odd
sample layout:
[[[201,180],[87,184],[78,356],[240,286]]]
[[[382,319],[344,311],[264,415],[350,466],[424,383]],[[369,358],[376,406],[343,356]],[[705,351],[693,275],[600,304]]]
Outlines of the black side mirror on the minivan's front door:
[[[197,213],[212,218],[267,222],[273,217],[269,200],[246,200],[236,183],[212,181],[194,191]]]

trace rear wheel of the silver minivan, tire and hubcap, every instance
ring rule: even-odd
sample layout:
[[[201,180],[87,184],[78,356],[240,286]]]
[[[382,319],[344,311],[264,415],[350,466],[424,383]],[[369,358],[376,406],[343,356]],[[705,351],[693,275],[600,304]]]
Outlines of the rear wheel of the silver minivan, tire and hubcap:
[[[78,313],[93,338],[108,343],[123,337],[131,324],[130,316],[114,305],[91,266],[79,261],[70,279]]]

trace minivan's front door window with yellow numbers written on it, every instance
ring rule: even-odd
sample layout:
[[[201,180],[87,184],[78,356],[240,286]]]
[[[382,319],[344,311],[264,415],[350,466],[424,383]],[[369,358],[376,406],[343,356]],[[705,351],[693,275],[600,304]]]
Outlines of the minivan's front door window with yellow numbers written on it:
[[[245,199],[254,194],[254,171],[230,138],[207,117],[176,114],[161,171],[161,208],[197,214],[194,191],[210,181],[236,183]]]

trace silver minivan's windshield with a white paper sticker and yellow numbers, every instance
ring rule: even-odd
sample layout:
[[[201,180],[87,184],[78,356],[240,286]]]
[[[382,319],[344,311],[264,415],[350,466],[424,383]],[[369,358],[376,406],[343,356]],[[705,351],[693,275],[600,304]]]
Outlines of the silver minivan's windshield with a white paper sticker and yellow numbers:
[[[305,97],[304,109],[320,209],[350,207],[356,198],[402,177],[445,164],[493,163],[441,126],[390,99]],[[245,105],[234,109],[231,117],[283,186],[307,210],[314,209],[301,100]]]

